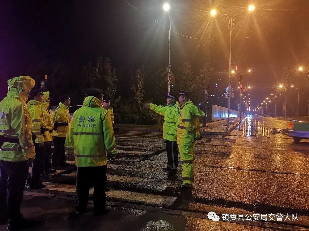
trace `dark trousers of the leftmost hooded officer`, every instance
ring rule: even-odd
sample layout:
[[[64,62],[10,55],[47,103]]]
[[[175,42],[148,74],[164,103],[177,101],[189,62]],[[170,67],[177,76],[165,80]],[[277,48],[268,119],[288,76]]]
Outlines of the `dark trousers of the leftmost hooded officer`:
[[[0,220],[22,217],[20,204],[28,175],[27,161],[0,160]]]

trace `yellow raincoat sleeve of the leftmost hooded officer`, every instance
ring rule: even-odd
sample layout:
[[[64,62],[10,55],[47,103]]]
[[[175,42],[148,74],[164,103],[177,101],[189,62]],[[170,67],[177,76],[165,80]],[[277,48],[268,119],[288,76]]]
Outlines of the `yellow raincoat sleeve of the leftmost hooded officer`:
[[[32,154],[34,156],[35,149],[31,133],[32,123],[28,110],[20,104],[15,107],[12,115],[11,127],[18,134],[19,144],[25,150],[25,154]]]

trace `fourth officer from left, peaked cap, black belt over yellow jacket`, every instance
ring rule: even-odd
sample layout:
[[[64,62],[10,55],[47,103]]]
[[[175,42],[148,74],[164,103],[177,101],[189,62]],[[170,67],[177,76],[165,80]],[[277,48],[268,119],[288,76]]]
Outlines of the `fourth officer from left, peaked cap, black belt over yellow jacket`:
[[[60,169],[60,167],[65,168],[68,165],[66,163],[64,143],[66,141],[66,132],[70,123],[70,103],[70,95],[63,95],[60,97],[59,105],[54,106],[50,109],[50,114],[54,123],[54,150],[52,156],[52,163],[54,169]]]

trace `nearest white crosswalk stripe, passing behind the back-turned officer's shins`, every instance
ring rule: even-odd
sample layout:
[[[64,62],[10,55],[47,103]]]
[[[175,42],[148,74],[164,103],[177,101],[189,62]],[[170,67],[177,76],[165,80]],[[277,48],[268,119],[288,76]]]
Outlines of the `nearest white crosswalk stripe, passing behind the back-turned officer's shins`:
[[[76,186],[70,184],[55,184],[44,182],[46,185],[45,190],[61,191],[68,193],[75,193]],[[93,195],[93,188],[89,190],[89,194]],[[176,197],[160,196],[146,193],[136,193],[122,190],[110,190],[106,192],[106,197],[109,200],[124,200],[129,202],[139,202],[143,204],[170,206],[176,200]]]

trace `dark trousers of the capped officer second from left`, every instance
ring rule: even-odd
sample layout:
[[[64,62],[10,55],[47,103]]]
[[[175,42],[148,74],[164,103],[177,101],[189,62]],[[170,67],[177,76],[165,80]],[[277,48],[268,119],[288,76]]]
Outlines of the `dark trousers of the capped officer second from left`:
[[[44,147],[40,147],[38,143],[35,143],[34,147],[36,149],[36,155],[32,163],[30,184],[38,185],[40,184],[40,176],[44,172],[45,152]]]

